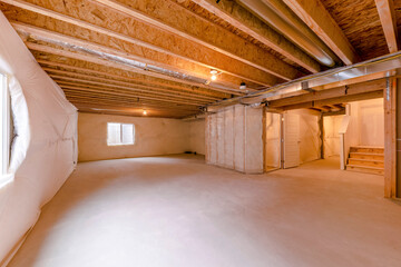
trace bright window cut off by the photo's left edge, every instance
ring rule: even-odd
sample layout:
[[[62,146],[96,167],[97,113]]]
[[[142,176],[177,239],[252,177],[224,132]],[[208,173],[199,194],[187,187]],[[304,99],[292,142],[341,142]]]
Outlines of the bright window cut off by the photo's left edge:
[[[7,77],[0,73],[0,109],[1,109],[1,122],[0,122],[0,141],[1,141],[1,156],[0,167],[1,177],[8,174],[10,162],[10,140],[11,140],[11,116],[10,116],[10,92],[8,90]]]

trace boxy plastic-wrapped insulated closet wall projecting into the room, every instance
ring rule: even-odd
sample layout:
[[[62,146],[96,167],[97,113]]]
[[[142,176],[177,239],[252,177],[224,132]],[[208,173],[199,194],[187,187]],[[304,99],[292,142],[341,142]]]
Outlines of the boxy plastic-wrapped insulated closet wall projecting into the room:
[[[263,109],[236,105],[206,117],[206,162],[263,172]]]

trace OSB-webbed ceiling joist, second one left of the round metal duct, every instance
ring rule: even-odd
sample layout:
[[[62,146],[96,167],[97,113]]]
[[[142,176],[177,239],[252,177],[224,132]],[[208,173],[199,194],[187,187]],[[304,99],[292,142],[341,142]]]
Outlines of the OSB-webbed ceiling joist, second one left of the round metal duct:
[[[109,8],[154,24],[243,61],[285,80],[300,76],[293,67],[231,31],[169,0],[95,0]],[[173,16],[172,16],[173,14]],[[203,34],[207,32],[207,34]]]

